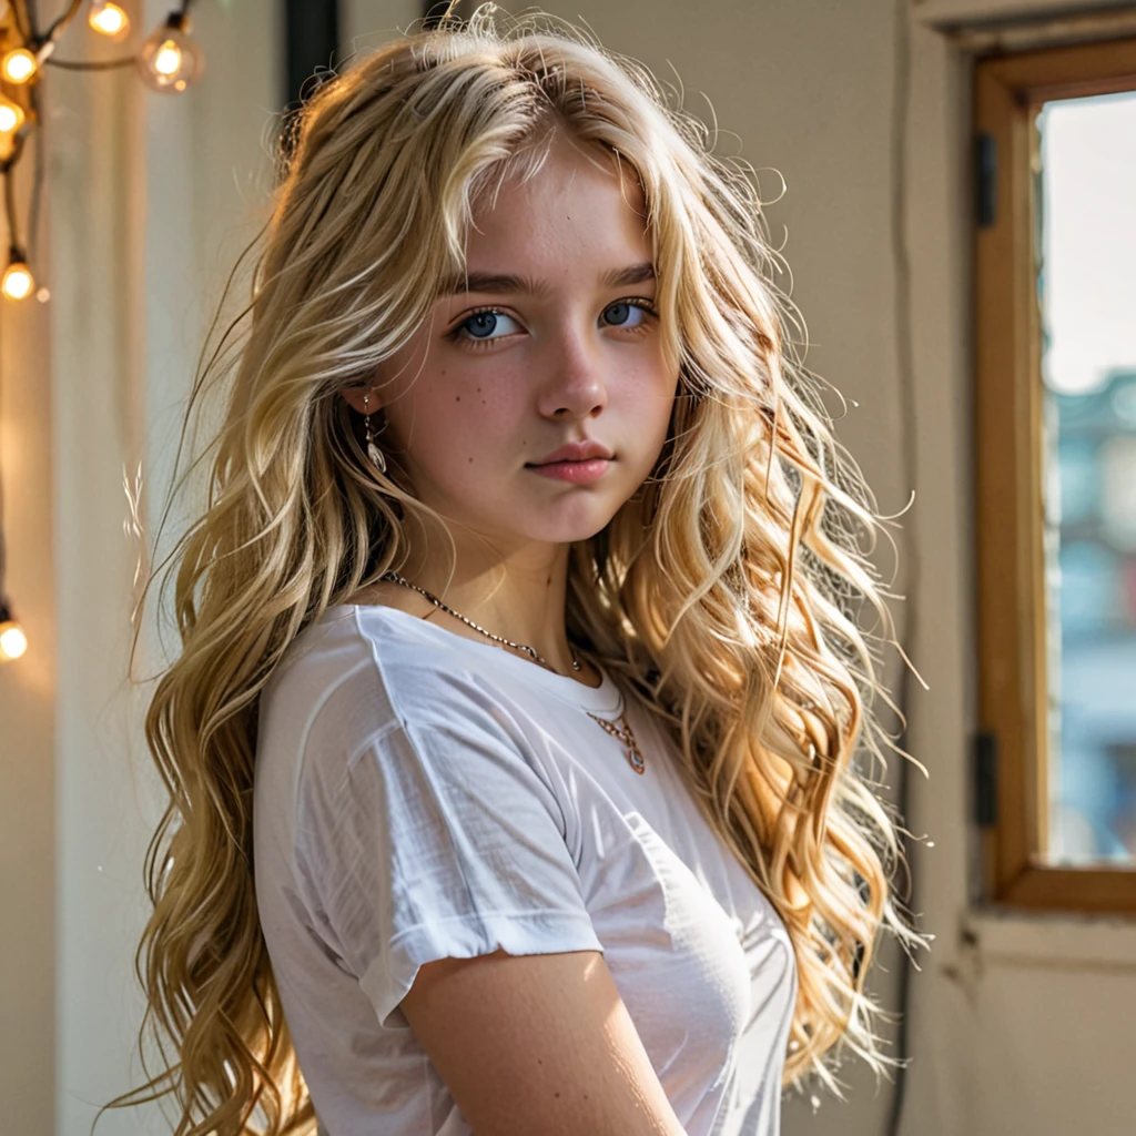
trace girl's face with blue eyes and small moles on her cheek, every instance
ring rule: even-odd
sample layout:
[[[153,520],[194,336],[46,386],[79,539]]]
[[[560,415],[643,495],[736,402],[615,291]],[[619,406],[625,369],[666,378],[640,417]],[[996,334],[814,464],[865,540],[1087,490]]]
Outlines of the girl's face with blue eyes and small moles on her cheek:
[[[663,365],[644,214],[630,174],[620,184],[558,133],[534,177],[475,210],[469,291],[463,279],[443,295],[376,376],[381,445],[426,504],[498,549],[594,535],[659,457],[677,375]],[[361,411],[364,393],[345,396]],[[599,476],[533,468],[587,440],[611,453]]]

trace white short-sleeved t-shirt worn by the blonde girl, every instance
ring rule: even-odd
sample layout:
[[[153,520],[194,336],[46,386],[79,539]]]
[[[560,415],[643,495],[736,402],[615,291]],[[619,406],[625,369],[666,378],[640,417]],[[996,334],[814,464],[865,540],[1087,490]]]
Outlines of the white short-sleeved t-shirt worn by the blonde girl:
[[[646,763],[585,711],[628,720]],[[399,1002],[448,955],[602,951],[688,1136],[774,1136],[788,933],[674,743],[588,687],[394,608],[337,605],[261,693],[260,921],[327,1136],[468,1136]]]

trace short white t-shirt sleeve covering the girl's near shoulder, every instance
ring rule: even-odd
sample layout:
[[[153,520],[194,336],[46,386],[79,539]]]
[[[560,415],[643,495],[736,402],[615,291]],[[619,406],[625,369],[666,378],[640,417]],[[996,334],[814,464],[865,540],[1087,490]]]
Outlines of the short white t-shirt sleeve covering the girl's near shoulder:
[[[311,782],[296,818],[302,875],[382,1026],[406,1026],[398,1004],[425,962],[603,950],[561,805],[491,708],[400,719],[329,792]]]

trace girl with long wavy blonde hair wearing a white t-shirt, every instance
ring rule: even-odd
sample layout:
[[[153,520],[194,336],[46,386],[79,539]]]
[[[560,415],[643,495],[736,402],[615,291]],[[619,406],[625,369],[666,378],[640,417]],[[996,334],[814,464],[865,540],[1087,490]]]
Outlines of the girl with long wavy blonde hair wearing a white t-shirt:
[[[176,550],[178,1136],[770,1136],[888,1063],[879,518],[751,172],[491,9],[303,108]]]

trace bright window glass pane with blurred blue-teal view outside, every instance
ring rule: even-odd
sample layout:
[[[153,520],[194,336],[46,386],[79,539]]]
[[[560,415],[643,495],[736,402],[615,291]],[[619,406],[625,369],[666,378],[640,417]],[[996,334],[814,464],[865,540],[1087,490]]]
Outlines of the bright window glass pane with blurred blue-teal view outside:
[[[1136,862],[1136,92],[1036,119],[1047,863]]]

